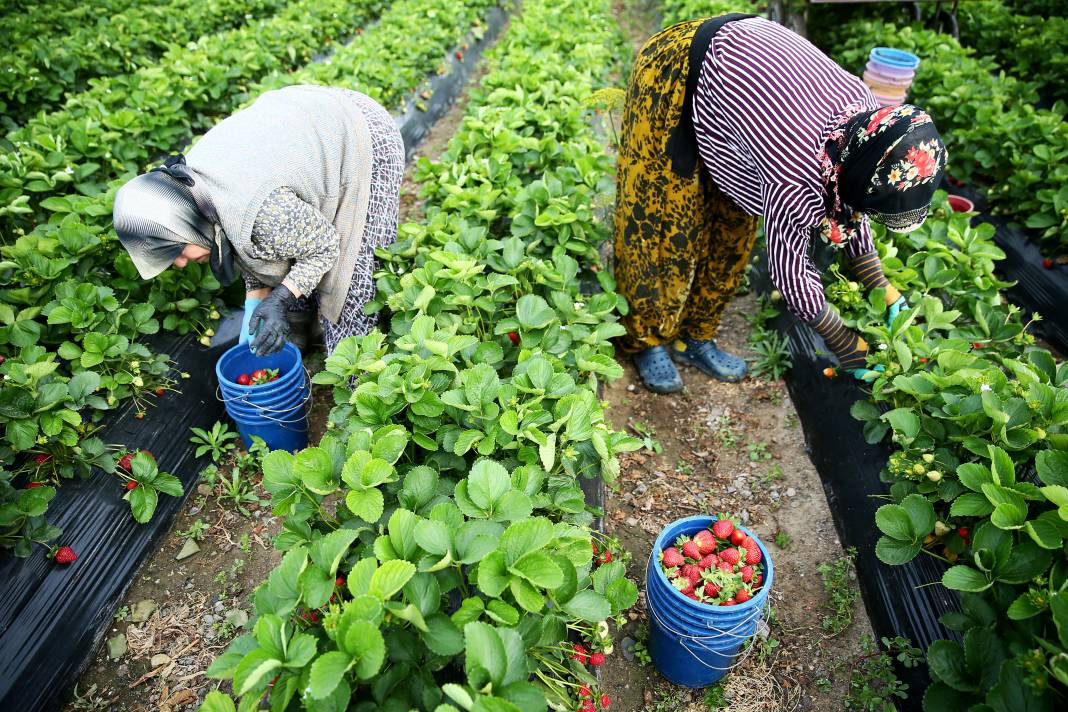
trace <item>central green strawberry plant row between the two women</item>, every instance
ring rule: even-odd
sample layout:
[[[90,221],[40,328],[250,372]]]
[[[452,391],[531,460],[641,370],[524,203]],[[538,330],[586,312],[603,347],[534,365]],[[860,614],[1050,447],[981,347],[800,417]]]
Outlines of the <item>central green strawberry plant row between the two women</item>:
[[[638,591],[578,478],[611,481],[640,446],[596,394],[621,374],[623,302],[599,270],[602,291],[579,289],[607,237],[611,161],[583,99],[623,52],[611,10],[524,2],[447,151],[421,161],[425,219],[379,251],[386,331],[316,375],[336,404],[318,446],[264,461],[286,553],[208,671],[240,709],[610,705],[587,665]]]

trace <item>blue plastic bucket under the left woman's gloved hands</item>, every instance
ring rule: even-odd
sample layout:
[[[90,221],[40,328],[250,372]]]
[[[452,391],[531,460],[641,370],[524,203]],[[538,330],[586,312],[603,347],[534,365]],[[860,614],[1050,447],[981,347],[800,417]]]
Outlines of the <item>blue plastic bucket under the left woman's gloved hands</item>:
[[[241,374],[261,368],[278,368],[279,378],[262,385],[239,385]],[[297,450],[308,446],[308,402],[311,384],[304,374],[300,351],[286,344],[269,357],[257,357],[248,344],[229,349],[215,366],[220,398],[237,424],[246,447],[252,438],[263,438],[271,449]]]

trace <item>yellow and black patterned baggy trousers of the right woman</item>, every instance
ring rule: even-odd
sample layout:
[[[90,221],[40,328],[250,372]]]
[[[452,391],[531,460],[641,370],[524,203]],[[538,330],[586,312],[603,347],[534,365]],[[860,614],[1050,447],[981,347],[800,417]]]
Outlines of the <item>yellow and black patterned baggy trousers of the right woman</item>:
[[[615,278],[630,311],[624,351],[712,338],[744,274],[756,218],[721,193],[698,161],[676,174],[668,140],[686,97],[689,51],[702,20],[655,35],[639,52],[619,136]]]

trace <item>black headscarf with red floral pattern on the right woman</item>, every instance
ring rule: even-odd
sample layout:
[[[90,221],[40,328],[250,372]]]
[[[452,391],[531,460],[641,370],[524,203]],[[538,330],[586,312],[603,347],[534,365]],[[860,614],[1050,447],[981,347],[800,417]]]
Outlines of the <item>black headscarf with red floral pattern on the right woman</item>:
[[[900,233],[920,227],[946,158],[934,122],[916,107],[854,112],[830,132],[819,155],[827,208],[820,236],[843,247],[855,237],[862,215]]]

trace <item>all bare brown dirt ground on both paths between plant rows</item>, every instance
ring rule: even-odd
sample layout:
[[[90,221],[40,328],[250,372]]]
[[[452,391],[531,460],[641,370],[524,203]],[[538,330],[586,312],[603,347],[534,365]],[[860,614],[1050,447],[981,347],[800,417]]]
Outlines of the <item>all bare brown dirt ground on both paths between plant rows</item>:
[[[654,14],[630,1],[621,0],[617,17],[634,47],[656,27]],[[476,74],[472,84],[481,76]],[[467,98],[465,90],[417,156],[436,157],[444,151]],[[402,222],[418,219],[422,207],[410,177],[412,164],[402,187]],[[745,352],[744,317],[754,310],[752,297],[732,305],[721,329],[724,348]],[[313,370],[316,362],[321,363],[321,354],[310,359]],[[858,640],[870,629],[859,603],[854,622],[839,636],[824,637],[819,627],[827,596],[816,567],[842,557],[843,551],[785,386],[752,379],[719,383],[693,369],[686,369],[684,378],[684,394],[656,396],[640,386],[628,363],[625,377],[603,394],[616,427],[648,437],[660,450],[626,458],[619,489],[607,493],[607,533],[630,552],[630,574],[642,584],[650,547],[664,524],[694,513],[737,513],[774,557],[772,622],[726,678],[717,708],[705,702],[705,692],[671,685],[651,666],[640,664],[641,645],[635,643],[644,643],[645,630],[640,602],[619,633],[617,654],[609,656],[601,671],[612,709],[841,710],[848,681],[841,664],[859,653]],[[316,389],[312,442],[325,430],[331,405],[329,392]],[[280,559],[270,539],[281,523],[271,517],[257,477],[247,485],[263,501],[247,502],[247,516],[224,499],[223,481],[199,485],[160,551],[131,586],[65,712],[182,712],[195,709],[216,686],[204,670],[244,632],[253,613],[253,588]],[[203,528],[199,552],[175,560],[188,533],[198,526]],[[771,543],[781,532],[792,540],[785,551]],[[117,656],[109,654],[109,649],[120,652],[122,647]]]

